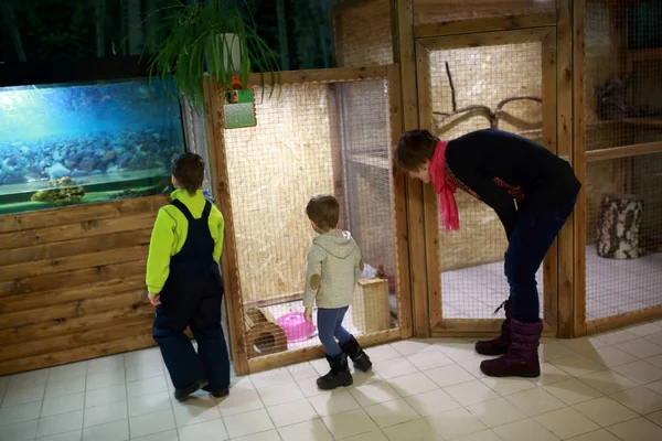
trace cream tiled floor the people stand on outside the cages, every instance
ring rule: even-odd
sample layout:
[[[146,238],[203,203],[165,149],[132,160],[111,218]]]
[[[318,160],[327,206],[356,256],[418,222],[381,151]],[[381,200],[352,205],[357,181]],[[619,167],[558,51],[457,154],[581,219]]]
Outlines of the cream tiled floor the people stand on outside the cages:
[[[544,341],[541,378],[483,377],[465,340],[370,348],[374,373],[317,390],[303,363],[179,404],[151,348],[0,378],[2,441],[662,440],[662,321]]]

